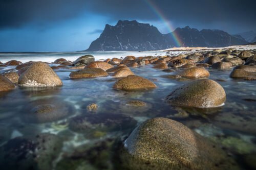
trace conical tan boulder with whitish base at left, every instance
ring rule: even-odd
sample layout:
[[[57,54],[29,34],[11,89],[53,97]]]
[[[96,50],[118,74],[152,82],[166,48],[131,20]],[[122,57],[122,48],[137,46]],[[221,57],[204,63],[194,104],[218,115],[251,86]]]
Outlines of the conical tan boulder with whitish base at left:
[[[19,77],[18,84],[23,86],[61,86],[62,81],[48,64],[34,62]]]

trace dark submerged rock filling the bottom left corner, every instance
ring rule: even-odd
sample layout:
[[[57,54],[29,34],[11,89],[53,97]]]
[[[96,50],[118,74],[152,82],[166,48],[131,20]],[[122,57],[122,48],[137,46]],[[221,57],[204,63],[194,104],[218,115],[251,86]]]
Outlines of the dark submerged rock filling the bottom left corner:
[[[42,133],[35,137],[16,137],[0,150],[1,169],[52,169],[53,161],[62,148],[59,137]]]

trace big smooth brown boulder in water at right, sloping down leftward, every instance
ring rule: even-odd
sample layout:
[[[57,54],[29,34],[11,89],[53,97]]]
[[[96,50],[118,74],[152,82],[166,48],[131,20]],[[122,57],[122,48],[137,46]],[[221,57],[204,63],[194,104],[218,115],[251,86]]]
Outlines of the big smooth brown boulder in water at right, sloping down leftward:
[[[175,89],[165,100],[174,106],[218,107],[226,101],[226,93],[217,82],[201,79]]]

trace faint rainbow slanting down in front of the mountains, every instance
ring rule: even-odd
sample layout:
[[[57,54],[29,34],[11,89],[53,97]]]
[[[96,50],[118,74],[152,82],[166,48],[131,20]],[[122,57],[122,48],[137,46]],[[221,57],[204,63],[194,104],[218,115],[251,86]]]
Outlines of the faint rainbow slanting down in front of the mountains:
[[[174,27],[172,26],[170,21],[164,16],[162,11],[151,0],[144,0],[144,1],[148,5],[148,7],[150,7],[156,13],[156,15],[161,19],[161,21],[163,21],[164,25],[167,27],[170,34],[172,35],[177,47],[182,46],[182,41],[180,37],[175,32],[173,32]]]

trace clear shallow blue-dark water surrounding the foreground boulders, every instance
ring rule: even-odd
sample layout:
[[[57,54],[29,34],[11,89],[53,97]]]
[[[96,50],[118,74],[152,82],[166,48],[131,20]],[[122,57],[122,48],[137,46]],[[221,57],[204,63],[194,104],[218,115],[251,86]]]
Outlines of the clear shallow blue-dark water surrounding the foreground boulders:
[[[53,161],[55,169],[113,169],[115,150],[110,149],[113,143],[125,139],[138,124],[148,118],[167,117],[225,147],[227,152],[236,155],[241,169],[248,168],[243,158],[256,153],[255,81],[230,79],[231,69],[209,69],[209,79],[217,81],[225,89],[225,105],[201,110],[172,108],[164,103],[165,96],[192,80],[164,78],[164,75],[172,73],[153,69],[152,66],[131,69],[136,75],[152,80],[157,88],[125,92],[112,88],[117,79],[105,77],[71,80],[70,70],[59,69],[56,72],[63,82],[61,87],[17,87],[8,93],[1,93],[1,145],[17,136],[52,133],[59,136],[59,144],[63,144],[60,154]],[[130,100],[141,100],[147,106],[126,105]],[[46,101],[55,103],[60,112],[67,114],[57,120],[54,117],[31,116],[33,108]],[[96,113],[87,110],[90,103],[98,105]],[[102,123],[102,126],[88,125],[92,127],[79,130],[76,125],[84,116],[94,117],[89,118],[89,121],[92,124]],[[113,121],[106,121],[108,116]]]

